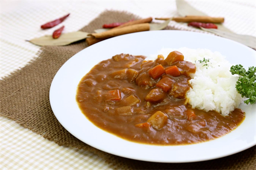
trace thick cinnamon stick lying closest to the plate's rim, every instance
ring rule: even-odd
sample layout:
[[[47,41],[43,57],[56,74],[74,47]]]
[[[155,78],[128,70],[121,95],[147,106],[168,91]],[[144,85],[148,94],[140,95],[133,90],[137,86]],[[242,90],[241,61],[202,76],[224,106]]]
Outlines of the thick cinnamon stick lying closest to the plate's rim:
[[[129,33],[135,33],[135,32],[141,32],[141,31],[149,31],[150,30],[150,24],[149,23],[139,23],[132,26],[126,26],[118,29],[111,29],[109,31],[101,32],[101,33],[92,33],[93,37],[97,39],[101,38],[110,38],[115,37],[123,34],[129,34]]]

